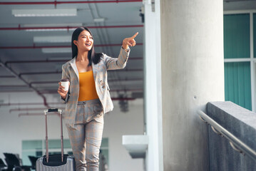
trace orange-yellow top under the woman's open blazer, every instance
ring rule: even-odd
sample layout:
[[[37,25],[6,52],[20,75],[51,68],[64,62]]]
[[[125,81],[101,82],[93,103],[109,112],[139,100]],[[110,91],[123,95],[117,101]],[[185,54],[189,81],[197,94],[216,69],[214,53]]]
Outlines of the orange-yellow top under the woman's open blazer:
[[[78,101],[93,100],[98,98],[93,71],[79,73],[79,97]]]

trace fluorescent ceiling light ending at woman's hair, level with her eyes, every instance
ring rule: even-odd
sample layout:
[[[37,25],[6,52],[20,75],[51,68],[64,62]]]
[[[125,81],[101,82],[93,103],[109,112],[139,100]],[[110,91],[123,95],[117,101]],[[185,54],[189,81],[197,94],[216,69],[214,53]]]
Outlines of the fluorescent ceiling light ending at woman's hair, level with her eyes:
[[[70,43],[71,36],[34,36],[34,43]]]

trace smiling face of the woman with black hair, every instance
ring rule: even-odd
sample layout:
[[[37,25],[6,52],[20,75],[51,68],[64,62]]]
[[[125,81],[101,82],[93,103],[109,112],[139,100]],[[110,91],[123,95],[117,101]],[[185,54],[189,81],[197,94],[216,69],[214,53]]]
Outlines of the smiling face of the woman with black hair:
[[[78,40],[74,40],[73,43],[77,46],[78,51],[90,51],[93,47],[93,36],[89,31],[82,31],[79,36]]]

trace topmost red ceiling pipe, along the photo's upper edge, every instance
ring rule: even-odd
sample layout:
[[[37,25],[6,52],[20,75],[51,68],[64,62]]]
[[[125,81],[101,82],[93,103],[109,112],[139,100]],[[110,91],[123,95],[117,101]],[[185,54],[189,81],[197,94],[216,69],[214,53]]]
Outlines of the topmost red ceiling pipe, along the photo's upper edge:
[[[51,5],[57,4],[96,4],[96,3],[121,3],[121,2],[142,2],[143,0],[112,0],[112,1],[30,1],[30,2],[0,2],[0,5]]]

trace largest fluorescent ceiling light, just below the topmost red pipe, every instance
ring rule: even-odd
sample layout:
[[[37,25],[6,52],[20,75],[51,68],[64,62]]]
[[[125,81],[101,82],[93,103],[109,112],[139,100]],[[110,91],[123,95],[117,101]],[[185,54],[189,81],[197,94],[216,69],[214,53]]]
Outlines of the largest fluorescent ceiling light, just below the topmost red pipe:
[[[14,16],[76,16],[77,9],[13,9]]]

